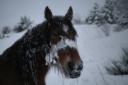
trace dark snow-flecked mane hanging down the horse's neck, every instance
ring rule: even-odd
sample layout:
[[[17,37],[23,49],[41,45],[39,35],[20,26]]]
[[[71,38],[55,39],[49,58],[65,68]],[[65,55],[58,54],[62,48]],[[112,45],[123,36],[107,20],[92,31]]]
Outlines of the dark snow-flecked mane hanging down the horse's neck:
[[[45,76],[48,72],[45,56],[49,50],[45,30],[41,30],[40,26],[29,30],[23,37],[23,49],[26,52],[23,61],[28,62],[26,69],[33,75],[32,80],[37,85],[44,85]]]

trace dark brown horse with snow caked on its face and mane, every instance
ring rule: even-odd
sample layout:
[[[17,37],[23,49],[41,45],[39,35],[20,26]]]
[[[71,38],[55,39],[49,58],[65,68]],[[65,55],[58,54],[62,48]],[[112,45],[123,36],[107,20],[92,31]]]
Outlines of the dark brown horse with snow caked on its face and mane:
[[[64,16],[53,16],[47,6],[45,21],[29,29],[0,55],[0,85],[46,85],[54,66],[65,78],[78,78],[83,61],[77,46],[70,6]]]

